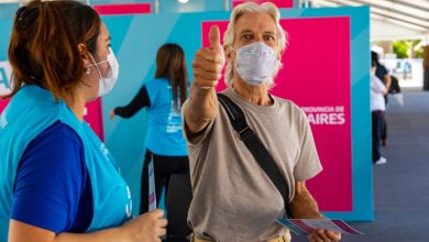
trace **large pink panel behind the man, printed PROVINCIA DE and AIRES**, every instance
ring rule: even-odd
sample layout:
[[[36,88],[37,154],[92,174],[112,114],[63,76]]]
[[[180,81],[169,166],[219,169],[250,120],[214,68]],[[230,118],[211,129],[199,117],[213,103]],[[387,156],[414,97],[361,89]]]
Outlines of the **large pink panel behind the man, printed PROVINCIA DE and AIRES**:
[[[204,46],[212,24],[223,34],[228,21],[202,23]],[[280,24],[289,44],[271,92],[293,100],[310,121],[323,172],[308,187],[320,209],[352,211],[350,19],[283,19]],[[218,89],[224,87],[221,80]]]

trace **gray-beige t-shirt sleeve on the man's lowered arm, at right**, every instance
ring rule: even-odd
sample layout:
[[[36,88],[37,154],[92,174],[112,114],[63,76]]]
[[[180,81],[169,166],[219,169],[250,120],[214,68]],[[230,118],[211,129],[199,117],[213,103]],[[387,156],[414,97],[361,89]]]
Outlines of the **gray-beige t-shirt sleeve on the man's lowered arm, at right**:
[[[310,179],[322,170],[311,128],[304,111],[300,111],[299,120],[299,125],[301,128],[300,135],[302,139],[300,140],[301,144],[298,161],[294,168],[296,182]]]

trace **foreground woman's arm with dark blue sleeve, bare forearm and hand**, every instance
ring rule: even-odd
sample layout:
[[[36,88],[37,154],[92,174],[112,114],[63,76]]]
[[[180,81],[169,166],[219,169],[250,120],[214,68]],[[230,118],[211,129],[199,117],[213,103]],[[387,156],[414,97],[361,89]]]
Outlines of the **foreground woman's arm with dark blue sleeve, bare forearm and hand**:
[[[119,228],[81,234],[62,232],[74,224],[88,182],[82,151],[79,136],[61,122],[31,142],[16,172],[9,241],[158,241],[166,224],[162,210],[142,215]]]

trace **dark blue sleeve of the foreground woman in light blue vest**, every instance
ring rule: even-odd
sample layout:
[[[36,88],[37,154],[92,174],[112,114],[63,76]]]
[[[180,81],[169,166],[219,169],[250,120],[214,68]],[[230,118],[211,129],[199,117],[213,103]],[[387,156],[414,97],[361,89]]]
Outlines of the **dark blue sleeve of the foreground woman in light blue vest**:
[[[55,233],[68,231],[84,191],[86,166],[80,138],[56,122],[21,157],[11,219]]]

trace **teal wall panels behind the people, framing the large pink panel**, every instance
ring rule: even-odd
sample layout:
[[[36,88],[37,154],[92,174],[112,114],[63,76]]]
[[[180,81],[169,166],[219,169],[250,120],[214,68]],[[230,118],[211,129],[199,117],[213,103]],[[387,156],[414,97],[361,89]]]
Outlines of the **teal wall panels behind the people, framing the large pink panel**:
[[[352,153],[353,211],[329,212],[331,218],[367,221],[374,219],[373,178],[371,162],[370,117],[370,18],[369,8],[289,9],[280,10],[283,18],[341,16],[351,18],[351,81],[352,81]],[[110,109],[127,105],[142,84],[153,78],[157,48],[167,42],[182,45],[190,63],[201,46],[201,21],[228,20],[230,12],[186,14],[147,14],[103,16],[112,36],[112,46],[120,63],[120,78],[113,91],[106,96],[103,120],[106,143],[119,161],[130,184],[134,213],[140,204],[140,177],[145,150],[147,114],[139,112],[132,119],[108,119]],[[0,18],[0,61],[7,59],[11,18]],[[367,50],[367,51],[366,51]]]

